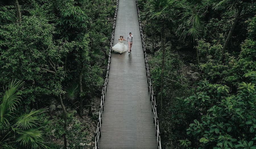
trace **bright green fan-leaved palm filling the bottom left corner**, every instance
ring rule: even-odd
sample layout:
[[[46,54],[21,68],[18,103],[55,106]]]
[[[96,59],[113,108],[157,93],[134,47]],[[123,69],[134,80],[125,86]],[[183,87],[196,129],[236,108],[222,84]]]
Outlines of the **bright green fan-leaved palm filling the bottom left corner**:
[[[17,117],[16,108],[22,95],[19,88],[24,84],[21,81],[12,81],[5,88],[0,104],[0,146],[3,148],[49,148],[46,141],[49,132],[48,119],[44,118],[46,109],[31,110],[29,113]],[[13,143],[15,142],[15,143]]]

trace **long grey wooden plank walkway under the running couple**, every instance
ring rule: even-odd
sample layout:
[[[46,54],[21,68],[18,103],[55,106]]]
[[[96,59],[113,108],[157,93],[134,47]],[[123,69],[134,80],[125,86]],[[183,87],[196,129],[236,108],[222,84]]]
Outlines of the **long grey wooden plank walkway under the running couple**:
[[[132,52],[112,52],[99,148],[156,149],[144,54],[135,0],[119,0],[114,45],[133,34]],[[124,41],[125,44],[128,44]]]

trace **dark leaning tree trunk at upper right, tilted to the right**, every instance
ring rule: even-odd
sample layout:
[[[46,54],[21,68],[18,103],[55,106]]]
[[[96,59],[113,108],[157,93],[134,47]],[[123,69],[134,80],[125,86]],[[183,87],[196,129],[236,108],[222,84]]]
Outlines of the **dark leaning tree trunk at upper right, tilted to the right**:
[[[227,47],[228,47],[228,43],[230,42],[230,39],[231,39],[231,37],[232,37],[232,34],[234,33],[234,30],[235,30],[235,28],[236,28],[236,25],[237,25],[237,23],[238,23],[238,20],[239,20],[239,17],[240,17],[240,14],[241,14],[241,11],[242,11],[242,10],[243,10],[243,4],[240,5],[240,7],[239,7],[239,9],[238,9],[238,12],[236,13],[235,20],[234,20],[234,22],[233,22],[233,24],[232,24],[232,27],[231,27],[231,29],[230,29],[230,31],[229,31],[229,33],[228,33],[228,36],[227,36],[227,38],[226,38],[226,41],[225,41],[224,45],[223,45],[222,54],[221,54],[221,56],[220,56],[220,61],[223,61],[223,59],[224,59],[225,51],[226,51],[226,49],[227,49]]]

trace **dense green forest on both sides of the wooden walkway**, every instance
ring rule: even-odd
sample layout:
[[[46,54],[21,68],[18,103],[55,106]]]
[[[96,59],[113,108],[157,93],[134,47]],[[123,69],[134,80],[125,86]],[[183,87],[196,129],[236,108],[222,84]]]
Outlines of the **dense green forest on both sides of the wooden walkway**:
[[[115,4],[0,1],[0,148],[93,148]],[[138,4],[162,148],[255,149],[254,0]]]

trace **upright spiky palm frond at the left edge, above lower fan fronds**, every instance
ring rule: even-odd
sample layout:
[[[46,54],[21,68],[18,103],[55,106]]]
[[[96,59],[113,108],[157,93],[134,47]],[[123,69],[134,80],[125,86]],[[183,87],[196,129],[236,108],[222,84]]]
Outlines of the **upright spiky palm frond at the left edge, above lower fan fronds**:
[[[9,84],[8,87],[5,88],[5,93],[3,95],[3,98],[1,100],[0,104],[0,123],[5,124],[6,126],[9,126],[8,120],[5,118],[8,116],[9,112],[13,112],[16,107],[18,106],[18,103],[21,95],[21,90],[18,90],[24,82],[22,81],[12,81],[11,84]],[[9,115],[10,116],[10,115]]]

